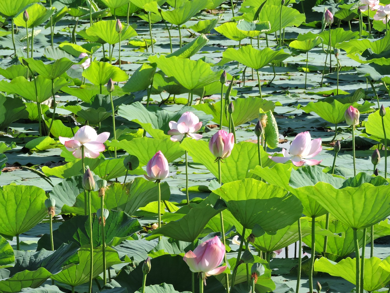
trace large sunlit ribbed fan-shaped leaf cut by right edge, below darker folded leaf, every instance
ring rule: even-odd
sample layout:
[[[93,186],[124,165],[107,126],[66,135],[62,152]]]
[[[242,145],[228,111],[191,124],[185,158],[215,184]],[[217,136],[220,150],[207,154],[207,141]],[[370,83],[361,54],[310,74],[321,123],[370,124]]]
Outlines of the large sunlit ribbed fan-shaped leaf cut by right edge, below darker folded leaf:
[[[390,185],[369,183],[337,189],[332,184],[318,182],[298,188],[314,198],[337,220],[354,229],[370,227],[390,215]]]

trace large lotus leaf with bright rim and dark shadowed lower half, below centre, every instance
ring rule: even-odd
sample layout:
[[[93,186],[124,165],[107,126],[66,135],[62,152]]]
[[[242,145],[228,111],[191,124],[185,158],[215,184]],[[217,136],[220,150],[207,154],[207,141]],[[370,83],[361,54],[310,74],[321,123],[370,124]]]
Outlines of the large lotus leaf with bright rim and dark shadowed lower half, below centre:
[[[302,205],[294,195],[255,179],[225,183],[213,192],[226,201],[229,211],[246,229],[257,224],[264,231],[277,231],[292,225],[302,214]]]

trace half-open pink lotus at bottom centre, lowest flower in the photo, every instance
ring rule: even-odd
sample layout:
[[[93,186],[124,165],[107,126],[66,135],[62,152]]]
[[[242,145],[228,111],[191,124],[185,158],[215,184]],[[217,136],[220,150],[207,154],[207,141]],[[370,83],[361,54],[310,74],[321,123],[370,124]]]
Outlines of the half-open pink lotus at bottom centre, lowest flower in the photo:
[[[225,256],[225,245],[218,236],[204,241],[192,252],[187,252],[183,259],[190,267],[191,272],[201,273],[204,284],[207,277],[219,275],[227,266],[219,266]]]

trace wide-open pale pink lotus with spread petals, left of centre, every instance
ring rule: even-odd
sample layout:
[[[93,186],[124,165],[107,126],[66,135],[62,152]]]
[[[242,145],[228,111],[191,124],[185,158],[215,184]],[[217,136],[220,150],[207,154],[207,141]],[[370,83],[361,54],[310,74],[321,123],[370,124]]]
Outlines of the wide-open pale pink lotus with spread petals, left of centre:
[[[84,156],[87,158],[97,158],[100,152],[103,152],[106,147],[103,145],[109,138],[110,132],[102,132],[97,135],[96,130],[85,125],[77,130],[73,138],[64,138],[60,136],[58,139],[66,147],[67,150],[73,152],[74,157],[81,159],[82,146],[84,146]]]

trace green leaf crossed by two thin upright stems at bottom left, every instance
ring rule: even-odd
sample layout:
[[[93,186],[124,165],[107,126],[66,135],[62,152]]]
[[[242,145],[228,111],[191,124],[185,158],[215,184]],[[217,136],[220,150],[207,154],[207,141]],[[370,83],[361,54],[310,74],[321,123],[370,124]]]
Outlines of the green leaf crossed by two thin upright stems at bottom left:
[[[53,275],[51,278],[69,286],[78,286],[88,282],[90,274],[90,254],[89,247],[80,248],[78,251],[79,263],[64,266],[61,272]],[[93,257],[94,262],[92,278],[96,278],[101,273],[103,273],[103,249],[101,247],[95,247]],[[114,264],[122,263],[122,261],[119,259],[118,252],[111,247],[105,248],[105,257],[107,268]]]

